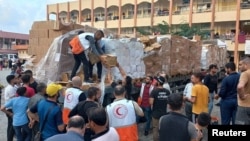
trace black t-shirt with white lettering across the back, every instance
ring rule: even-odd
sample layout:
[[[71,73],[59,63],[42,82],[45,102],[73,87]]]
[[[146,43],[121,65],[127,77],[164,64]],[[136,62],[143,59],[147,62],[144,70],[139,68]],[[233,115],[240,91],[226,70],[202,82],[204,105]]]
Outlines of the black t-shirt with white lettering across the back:
[[[159,119],[167,113],[167,98],[170,95],[169,90],[165,88],[155,88],[150,97],[154,98],[152,117]]]

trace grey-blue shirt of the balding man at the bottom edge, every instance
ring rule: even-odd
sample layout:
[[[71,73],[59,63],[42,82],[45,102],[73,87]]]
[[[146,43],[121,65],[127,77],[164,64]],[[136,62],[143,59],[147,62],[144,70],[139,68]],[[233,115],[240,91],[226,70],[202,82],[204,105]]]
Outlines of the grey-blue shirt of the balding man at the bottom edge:
[[[83,136],[74,131],[68,131],[65,134],[55,135],[45,141],[84,141]]]

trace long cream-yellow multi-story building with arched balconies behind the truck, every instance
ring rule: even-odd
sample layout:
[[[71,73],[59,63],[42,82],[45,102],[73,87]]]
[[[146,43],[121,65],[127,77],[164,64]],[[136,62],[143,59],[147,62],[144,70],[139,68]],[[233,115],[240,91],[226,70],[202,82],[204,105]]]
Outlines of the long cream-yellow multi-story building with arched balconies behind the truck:
[[[153,27],[162,21],[174,30],[181,23],[196,25],[210,31],[212,38],[228,39],[229,50],[234,50],[235,34],[237,42],[243,43],[239,50],[244,50],[249,13],[250,0],[76,0],[47,5],[47,20],[55,14],[57,19],[108,28],[118,35],[136,35],[136,27]]]

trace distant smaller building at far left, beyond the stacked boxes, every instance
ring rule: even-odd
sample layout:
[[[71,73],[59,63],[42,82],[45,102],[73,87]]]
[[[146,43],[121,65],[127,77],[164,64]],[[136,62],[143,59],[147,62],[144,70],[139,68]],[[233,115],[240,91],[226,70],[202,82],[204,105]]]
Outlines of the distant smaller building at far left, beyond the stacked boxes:
[[[28,43],[28,34],[0,31],[0,54],[17,53],[14,48],[14,45]]]

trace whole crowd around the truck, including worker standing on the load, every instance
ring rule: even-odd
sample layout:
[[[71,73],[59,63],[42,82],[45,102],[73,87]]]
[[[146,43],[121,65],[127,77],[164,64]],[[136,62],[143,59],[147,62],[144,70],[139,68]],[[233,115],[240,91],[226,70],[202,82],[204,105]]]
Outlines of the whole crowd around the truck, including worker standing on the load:
[[[205,141],[213,102],[219,98],[222,125],[250,124],[250,58],[240,61],[240,72],[236,72],[233,62],[225,64],[227,76],[220,89],[217,66],[211,64],[205,76],[193,73],[183,94],[177,94],[171,92],[165,72],[147,74],[134,81],[117,63],[115,67],[122,79],[113,80],[111,67],[99,52],[108,83],[101,100],[100,87],[83,90],[82,85],[83,81],[91,81],[84,49],[97,48],[96,41],[102,37],[100,31],[94,35],[80,33],[71,42],[76,65],[71,85],[66,88],[57,83],[37,82],[30,70],[6,77],[8,86],[1,110],[8,118],[8,141],[13,141],[14,136],[18,141],[138,141],[139,123],[144,124],[144,136],[153,134],[153,141]],[[84,49],[81,42],[85,42]],[[81,62],[84,80],[75,75]],[[60,97],[62,106],[58,104]]]

